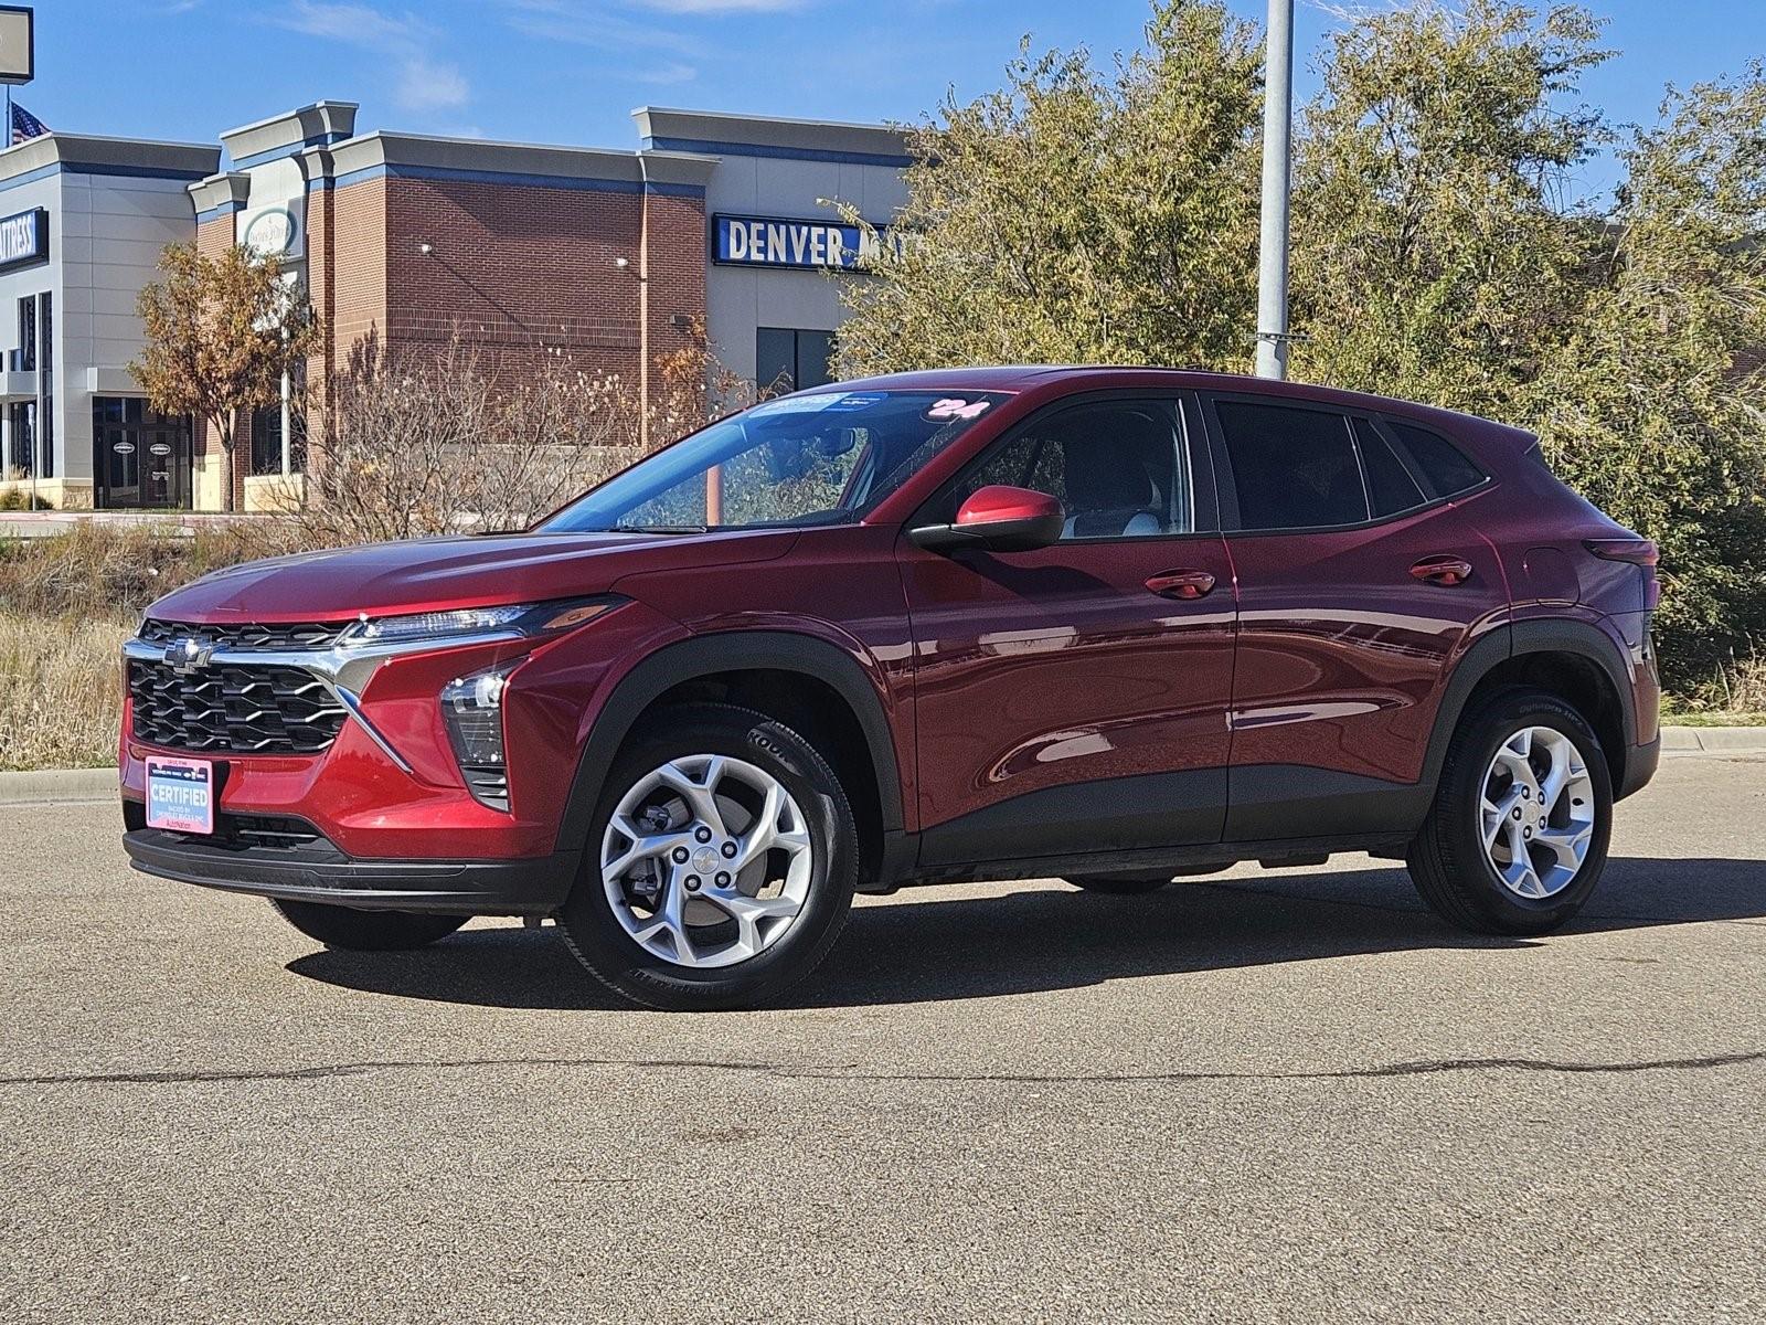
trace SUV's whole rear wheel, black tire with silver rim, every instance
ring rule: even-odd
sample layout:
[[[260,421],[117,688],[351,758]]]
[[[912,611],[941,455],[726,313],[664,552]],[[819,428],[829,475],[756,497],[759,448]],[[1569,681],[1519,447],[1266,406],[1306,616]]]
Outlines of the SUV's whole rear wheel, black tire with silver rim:
[[[1538,816],[1531,806],[1552,784],[1536,765],[1545,765],[1547,774],[1554,767],[1559,742],[1552,737],[1566,742],[1574,753],[1566,768],[1579,765],[1581,774],[1565,774],[1549,813]],[[1524,772],[1510,772],[1522,761],[1533,770],[1531,786]],[[1487,800],[1492,791],[1498,799]],[[1582,814],[1586,825],[1575,818]],[[1496,844],[1487,850],[1489,825]],[[1547,844],[1570,843],[1584,827],[1579,860]],[[1406,864],[1423,901],[1450,924],[1482,935],[1545,935],[1570,920],[1595,890],[1611,834],[1612,774],[1595,730],[1558,696],[1512,687],[1496,691],[1460,721]],[[1513,852],[1517,841],[1526,862]]]

